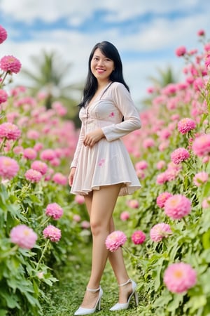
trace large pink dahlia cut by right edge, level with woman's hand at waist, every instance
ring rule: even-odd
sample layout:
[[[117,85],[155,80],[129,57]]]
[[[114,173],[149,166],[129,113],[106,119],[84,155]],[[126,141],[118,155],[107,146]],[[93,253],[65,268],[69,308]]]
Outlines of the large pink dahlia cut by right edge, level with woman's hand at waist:
[[[210,154],[210,133],[198,136],[193,142],[193,152],[199,157]]]

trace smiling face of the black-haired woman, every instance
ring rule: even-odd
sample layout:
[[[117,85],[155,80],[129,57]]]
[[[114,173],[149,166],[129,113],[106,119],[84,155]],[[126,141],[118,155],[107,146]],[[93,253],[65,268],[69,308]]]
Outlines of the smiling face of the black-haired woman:
[[[97,48],[92,56],[90,68],[99,83],[106,83],[114,70],[114,62]]]

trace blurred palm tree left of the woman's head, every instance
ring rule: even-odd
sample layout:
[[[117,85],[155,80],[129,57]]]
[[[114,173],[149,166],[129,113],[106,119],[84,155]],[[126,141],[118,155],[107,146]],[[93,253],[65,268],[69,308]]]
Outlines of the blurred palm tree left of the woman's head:
[[[70,116],[75,114],[73,105],[78,103],[76,93],[81,94],[82,84],[66,84],[66,78],[71,70],[71,63],[66,63],[55,51],[32,55],[31,62],[36,67],[36,71],[22,69],[21,74],[29,80],[29,89],[31,96],[36,96],[38,92],[45,93],[45,106],[51,107],[55,100],[68,105]],[[78,96],[80,98],[80,95]]]

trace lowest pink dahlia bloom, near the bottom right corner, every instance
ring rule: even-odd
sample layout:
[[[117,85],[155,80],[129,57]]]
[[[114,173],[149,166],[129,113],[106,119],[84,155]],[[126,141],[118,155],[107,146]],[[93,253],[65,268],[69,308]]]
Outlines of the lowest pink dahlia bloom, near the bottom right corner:
[[[194,287],[197,275],[188,263],[174,263],[165,270],[163,280],[169,291],[183,293]]]

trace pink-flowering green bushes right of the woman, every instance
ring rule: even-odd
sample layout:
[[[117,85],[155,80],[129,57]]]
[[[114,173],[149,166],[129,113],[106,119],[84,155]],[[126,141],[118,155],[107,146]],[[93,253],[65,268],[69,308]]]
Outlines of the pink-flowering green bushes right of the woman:
[[[198,36],[200,52],[176,49],[183,81],[150,88],[141,130],[125,137],[135,166],[146,162],[125,227],[127,236],[146,234],[130,246],[139,315],[210,315],[210,42]]]

